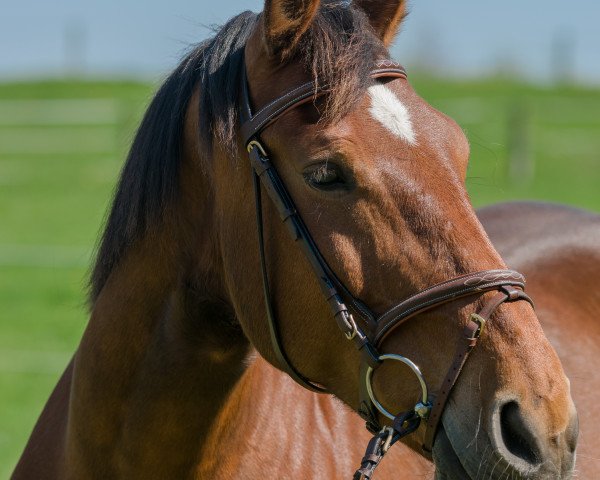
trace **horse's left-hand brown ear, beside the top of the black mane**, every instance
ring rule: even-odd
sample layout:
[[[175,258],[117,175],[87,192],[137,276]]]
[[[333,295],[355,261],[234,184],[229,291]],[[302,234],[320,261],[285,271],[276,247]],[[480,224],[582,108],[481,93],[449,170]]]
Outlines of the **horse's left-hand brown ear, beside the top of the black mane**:
[[[263,28],[267,51],[280,58],[292,53],[320,3],[320,0],[265,0]]]

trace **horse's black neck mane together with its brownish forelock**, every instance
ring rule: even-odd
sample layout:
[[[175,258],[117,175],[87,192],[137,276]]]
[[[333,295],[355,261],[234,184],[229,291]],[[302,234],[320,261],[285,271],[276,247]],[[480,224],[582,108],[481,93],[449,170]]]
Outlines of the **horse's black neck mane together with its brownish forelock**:
[[[195,47],[156,93],[121,172],[90,279],[92,302],[126,249],[177,199],[185,113],[197,87],[203,150],[211,152],[216,141],[236,156],[243,48],[258,18],[244,12],[230,20]],[[363,95],[373,60],[385,53],[366,15],[347,2],[326,1],[289,61],[301,61],[316,81],[334,86],[324,117],[335,119]]]

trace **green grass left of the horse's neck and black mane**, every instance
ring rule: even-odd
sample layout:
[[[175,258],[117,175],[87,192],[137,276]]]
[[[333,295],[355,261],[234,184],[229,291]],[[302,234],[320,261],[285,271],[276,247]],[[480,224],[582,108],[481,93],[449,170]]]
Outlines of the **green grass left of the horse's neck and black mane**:
[[[152,90],[0,84],[0,478],[85,327],[93,246]]]

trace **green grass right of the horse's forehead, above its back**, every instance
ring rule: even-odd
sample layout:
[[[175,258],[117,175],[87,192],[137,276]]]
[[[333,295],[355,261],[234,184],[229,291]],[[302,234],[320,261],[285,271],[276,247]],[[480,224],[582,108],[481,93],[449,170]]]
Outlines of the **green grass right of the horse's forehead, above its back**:
[[[474,205],[530,199],[600,211],[599,90],[493,79],[417,78],[413,84],[467,134]],[[519,159],[530,165],[531,175]]]

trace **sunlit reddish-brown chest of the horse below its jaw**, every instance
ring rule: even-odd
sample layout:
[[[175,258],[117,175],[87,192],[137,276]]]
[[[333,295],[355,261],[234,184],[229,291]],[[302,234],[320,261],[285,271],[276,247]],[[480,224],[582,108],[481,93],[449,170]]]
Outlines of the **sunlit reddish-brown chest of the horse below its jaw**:
[[[349,478],[370,438],[339,400],[300,387],[256,355],[220,410],[194,478]],[[431,464],[398,444],[378,474],[398,472],[429,478]]]

